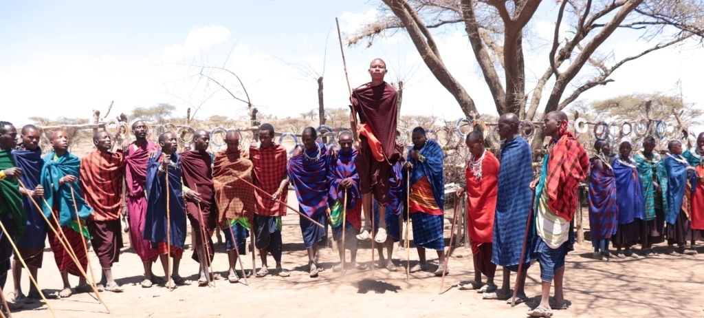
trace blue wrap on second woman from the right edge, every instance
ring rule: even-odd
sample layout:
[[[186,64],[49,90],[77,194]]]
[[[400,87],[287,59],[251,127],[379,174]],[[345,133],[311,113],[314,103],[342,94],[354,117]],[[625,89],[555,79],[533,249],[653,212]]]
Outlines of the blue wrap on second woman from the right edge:
[[[682,201],[684,200],[684,191],[687,188],[687,164],[680,160],[685,160],[684,157],[674,155],[677,159],[670,157],[668,154],[665,158],[665,169],[667,170],[667,183],[669,185],[669,190],[667,191],[667,214],[665,214],[665,221],[667,224],[674,225],[677,222],[677,216],[679,211],[682,209]]]

